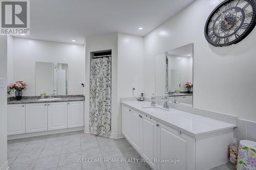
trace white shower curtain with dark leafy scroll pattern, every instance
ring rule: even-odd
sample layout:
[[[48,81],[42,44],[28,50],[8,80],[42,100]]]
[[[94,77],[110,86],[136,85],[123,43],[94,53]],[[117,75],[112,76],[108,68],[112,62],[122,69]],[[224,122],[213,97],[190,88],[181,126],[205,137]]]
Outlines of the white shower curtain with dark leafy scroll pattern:
[[[111,56],[91,58],[91,133],[109,136],[111,131]]]

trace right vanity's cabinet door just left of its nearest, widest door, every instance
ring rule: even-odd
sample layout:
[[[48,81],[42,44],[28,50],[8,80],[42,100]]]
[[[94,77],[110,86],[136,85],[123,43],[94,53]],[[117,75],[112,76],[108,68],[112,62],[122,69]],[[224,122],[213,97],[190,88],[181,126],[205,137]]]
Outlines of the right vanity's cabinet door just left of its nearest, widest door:
[[[150,166],[156,169],[154,159],[157,158],[157,126],[156,120],[149,116],[142,115],[143,133],[142,133],[142,156],[149,159]]]

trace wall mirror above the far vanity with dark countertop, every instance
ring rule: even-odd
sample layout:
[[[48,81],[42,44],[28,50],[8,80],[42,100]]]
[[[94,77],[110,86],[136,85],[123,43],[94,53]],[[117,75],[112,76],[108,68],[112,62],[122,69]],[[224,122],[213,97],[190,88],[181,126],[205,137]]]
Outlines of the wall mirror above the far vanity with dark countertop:
[[[36,62],[36,95],[45,90],[46,94],[68,94],[68,64]]]

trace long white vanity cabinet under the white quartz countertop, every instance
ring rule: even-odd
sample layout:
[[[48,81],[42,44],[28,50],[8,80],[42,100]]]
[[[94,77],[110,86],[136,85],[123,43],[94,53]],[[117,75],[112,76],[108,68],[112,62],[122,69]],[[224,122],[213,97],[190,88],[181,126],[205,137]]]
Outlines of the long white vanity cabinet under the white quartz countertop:
[[[233,129],[189,136],[122,104],[122,133],[154,170],[206,170],[228,161]]]

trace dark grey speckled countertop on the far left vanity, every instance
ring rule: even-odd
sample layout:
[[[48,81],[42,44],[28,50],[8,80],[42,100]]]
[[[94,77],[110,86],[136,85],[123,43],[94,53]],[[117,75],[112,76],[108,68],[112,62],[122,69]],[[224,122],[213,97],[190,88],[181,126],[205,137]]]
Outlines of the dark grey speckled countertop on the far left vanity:
[[[47,96],[49,98],[49,96]],[[38,101],[40,96],[24,96],[22,100],[17,101],[15,97],[8,98],[8,105],[13,104],[29,104],[29,103],[55,103],[55,102],[75,102],[75,101],[84,101],[83,95],[56,95],[54,98],[61,98],[56,101]]]

